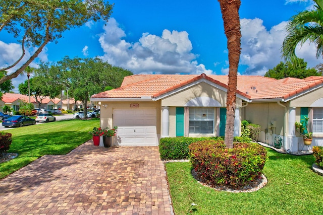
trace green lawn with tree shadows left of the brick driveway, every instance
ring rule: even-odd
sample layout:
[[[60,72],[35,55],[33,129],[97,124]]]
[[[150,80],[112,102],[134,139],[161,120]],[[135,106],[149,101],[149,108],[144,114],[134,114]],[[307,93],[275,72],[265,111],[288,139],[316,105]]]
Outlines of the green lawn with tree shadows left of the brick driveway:
[[[88,131],[99,126],[99,119],[62,120],[29,125],[4,132],[12,133],[9,153],[18,157],[0,163],[0,179],[44,155],[63,155],[91,139]]]

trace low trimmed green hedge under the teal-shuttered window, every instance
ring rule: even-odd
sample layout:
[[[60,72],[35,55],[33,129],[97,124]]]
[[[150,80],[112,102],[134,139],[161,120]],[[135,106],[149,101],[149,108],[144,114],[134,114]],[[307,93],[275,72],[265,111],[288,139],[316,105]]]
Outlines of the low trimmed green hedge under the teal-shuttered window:
[[[189,159],[188,146],[202,140],[223,140],[222,137],[165,137],[159,141],[160,158],[164,160]],[[250,142],[249,137],[234,137],[235,142]]]

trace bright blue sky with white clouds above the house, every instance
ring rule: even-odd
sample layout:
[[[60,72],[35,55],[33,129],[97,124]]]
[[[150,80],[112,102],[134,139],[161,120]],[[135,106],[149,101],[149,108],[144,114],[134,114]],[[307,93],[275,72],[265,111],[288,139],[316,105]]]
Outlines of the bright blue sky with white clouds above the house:
[[[108,23],[87,23],[65,32],[31,66],[36,67],[40,59],[58,61],[66,55],[98,56],[134,74],[228,74],[227,38],[217,0],[110,3],[115,7]],[[287,21],[312,4],[309,0],[242,0],[239,75],[263,76],[282,61],[280,48]],[[17,40],[2,32],[0,66],[13,62],[20,52]],[[313,45],[304,44],[296,53],[309,67],[322,62],[315,58]],[[18,86],[25,79],[20,76],[13,84]]]

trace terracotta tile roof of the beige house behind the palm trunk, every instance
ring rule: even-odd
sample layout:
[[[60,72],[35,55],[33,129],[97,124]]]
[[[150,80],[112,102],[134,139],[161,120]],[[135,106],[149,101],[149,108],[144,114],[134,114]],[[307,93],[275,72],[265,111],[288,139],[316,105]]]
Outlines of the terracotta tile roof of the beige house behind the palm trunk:
[[[133,75],[125,77],[120,88],[95,94],[92,98],[158,97],[200,79],[228,87],[228,76]],[[251,100],[287,99],[321,84],[323,84],[323,77],[276,80],[262,76],[238,76],[237,93]]]

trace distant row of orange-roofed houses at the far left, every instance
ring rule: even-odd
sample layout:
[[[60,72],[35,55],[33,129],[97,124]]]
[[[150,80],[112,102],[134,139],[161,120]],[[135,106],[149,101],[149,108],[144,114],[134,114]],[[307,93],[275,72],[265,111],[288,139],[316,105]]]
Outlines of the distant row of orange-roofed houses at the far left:
[[[4,105],[10,106],[15,111],[19,111],[21,103],[28,102],[29,97],[26,95],[18,94],[18,93],[5,93],[2,97],[2,102]],[[36,102],[35,98],[30,97],[30,103],[34,105],[34,108],[44,108],[44,109],[51,109],[51,108],[60,108],[61,100],[58,98],[50,99],[49,97],[44,97],[41,101],[40,107],[38,107],[38,102]],[[1,104],[1,103],[0,103]]]

